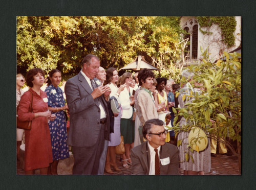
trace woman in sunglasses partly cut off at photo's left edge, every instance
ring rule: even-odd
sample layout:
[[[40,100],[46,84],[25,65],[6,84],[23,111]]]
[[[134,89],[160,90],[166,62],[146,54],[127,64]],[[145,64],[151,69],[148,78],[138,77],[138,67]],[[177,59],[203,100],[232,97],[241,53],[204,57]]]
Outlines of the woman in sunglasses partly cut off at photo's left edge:
[[[22,74],[17,74],[16,76],[16,109],[17,109],[17,106],[19,104],[19,101],[20,101],[20,98],[22,97],[24,91],[22,89],[22,87],[24,86],[24,83],[25,83],[25,77],[22,75]],[[17,128],[17,160],[19,160],[19,147],[20,145],[22,145],[22,137],[23,137],[23,134],[24,134],[24,129],[18,129]]]

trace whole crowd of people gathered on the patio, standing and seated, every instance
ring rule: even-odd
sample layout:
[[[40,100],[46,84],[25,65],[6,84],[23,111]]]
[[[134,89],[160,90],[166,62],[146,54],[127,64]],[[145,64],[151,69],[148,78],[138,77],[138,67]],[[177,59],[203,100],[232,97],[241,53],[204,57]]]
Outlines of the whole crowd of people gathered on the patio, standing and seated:
[[[40,89],[45,82],[40,68],[28,71],[26,84],[30,88],[25,93],[25,77],[17,75],[17,115],[21,121],[32,121],[31,130],[17,128],[17,159],[25,133],[25,174],[40,169],[40,174],[57,175],[58,162],[68,158],[69,151],[74,156],[74,175],[121,171],[116,163],[120,136],[125,149],[120,156],[122,167],[132,167],[134,175],[179,175],[179,168],[184,175],[210,171],[209,144],[199,153],[194,151],[194,161],[189,162],[184,161],[187,140],[177,147],[171,128],[173,108],[185,107],[185,102],[175,96],[183,88],[174,79],[155,79],[147,68],[119,77],[116,68],[105,70],[92,54],[81,64],[81,71],[67,80],[65,92],[59,87],[61,72],[57,69],[48,74],[45,91]],[[118,111],[113,111],[113,98]],[[31,101],[33,112],[28,109]],[[180,125],[185,125],[184,118],[179,119]],[[187,139],[187,135],[182,132],[178,139]]]

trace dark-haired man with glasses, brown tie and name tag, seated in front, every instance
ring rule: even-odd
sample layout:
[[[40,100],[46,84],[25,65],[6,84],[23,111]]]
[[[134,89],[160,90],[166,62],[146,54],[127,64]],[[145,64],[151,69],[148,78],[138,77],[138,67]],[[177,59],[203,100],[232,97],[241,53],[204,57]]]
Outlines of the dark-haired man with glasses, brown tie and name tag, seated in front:
[[[145,122],[142,133],[147,141],[131,151],[134,175],[179,175],[178,148],[165,143],[163,124],[158,119]]]

